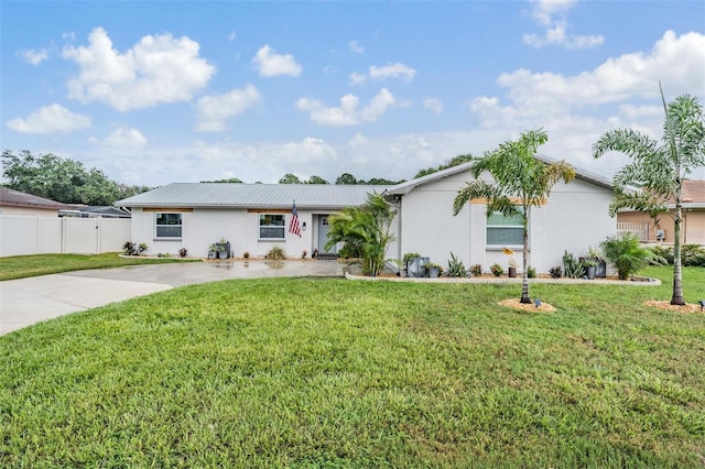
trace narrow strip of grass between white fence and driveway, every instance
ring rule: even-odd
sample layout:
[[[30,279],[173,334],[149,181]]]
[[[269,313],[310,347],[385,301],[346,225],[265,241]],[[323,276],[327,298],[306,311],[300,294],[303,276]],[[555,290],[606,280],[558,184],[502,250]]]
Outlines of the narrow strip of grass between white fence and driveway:
[[[184,262],[181,258],[121,258],[118,252],[104,254],[37,254],[0,258],[0,281],[70,272],[86,269],[122,268],[126,265]]]

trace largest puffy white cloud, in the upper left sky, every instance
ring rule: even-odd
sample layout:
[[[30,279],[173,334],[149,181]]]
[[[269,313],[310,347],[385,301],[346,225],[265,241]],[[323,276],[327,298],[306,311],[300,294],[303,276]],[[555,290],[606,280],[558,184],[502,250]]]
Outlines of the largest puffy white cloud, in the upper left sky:
[[[198,56],[198,43],[171,34],[147,35],[124,54],[112,47],[101,28],[88,46],[66,46],[63,56],[76,62],[78,77],[68,81],[68,96],[80,102],[105,102],[119,111],[163,102],[185,101],[205,87],[215,67]]]

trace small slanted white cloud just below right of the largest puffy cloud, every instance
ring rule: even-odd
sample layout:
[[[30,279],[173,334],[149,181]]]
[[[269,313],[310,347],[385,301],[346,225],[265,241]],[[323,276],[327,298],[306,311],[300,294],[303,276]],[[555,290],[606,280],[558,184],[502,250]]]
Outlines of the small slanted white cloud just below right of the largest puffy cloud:
[[[198,117],[196,130],[199,132],[223,132],[227,130],[225,120],[245,112],[260,100],[260,94],[252,85],[234,89],[225,95],[204,96],[196,105]]]

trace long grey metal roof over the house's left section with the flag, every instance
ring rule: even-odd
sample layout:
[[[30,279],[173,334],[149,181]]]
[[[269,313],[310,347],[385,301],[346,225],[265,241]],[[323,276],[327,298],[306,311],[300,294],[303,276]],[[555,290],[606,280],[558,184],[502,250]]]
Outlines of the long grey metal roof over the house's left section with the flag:
[[[390,186],[332,184],[174,183],[115,203],[119,207],[339,209]]]

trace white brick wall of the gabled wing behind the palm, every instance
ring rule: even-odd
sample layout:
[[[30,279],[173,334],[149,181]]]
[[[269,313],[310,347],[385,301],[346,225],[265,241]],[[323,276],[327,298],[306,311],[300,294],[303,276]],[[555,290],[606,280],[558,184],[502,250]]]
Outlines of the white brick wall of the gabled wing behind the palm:
[[[453,217],[453,199],[470,177],[469,172],[420,186],[402,199],[401,253],[419,252],[447,265],[451,252],[465,266],[481,264],[485,271],[495,262],[507,270],[509,258],[501,249],[486,248],[486,207],[468,205]],[[590,247],[617,231],[608,215],[610,190],[584,181],[554,186],[545,206],[532,208],[529,231],[529,264],[538,272],[561,265],[565,250],[579,257]],[[522,253],[514,260],[521,271]]]

